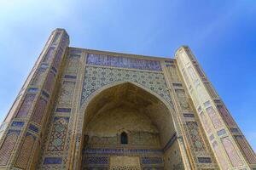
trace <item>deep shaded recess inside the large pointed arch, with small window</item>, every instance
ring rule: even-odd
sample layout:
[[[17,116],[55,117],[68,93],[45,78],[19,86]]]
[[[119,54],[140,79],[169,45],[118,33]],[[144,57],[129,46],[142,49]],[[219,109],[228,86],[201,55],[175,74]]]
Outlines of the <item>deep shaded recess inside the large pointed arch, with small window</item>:
[[[104,89],[84,116],[82,169],[183,167],[170,109],[131,82]]]

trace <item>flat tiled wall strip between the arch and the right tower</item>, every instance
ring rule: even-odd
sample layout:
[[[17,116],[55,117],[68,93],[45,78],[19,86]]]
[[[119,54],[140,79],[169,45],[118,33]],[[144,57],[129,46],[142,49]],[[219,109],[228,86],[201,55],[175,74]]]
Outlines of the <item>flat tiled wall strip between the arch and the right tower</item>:
[[[195,115],[195,108],[189,99],[188,88],[185,87],[183,78],[180,77],[176,60],[165,60],[163,68],[192,169],[218,168],[209,144],[204,138],[205,135],[203,135],[198,116]]]

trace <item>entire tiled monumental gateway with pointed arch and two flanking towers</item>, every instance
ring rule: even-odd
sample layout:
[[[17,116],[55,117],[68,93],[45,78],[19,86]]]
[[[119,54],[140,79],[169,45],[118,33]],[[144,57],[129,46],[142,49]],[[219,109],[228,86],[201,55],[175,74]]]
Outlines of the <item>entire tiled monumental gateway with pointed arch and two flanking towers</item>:
[[[68,45],[51,33],[1,126],[0,169],[256,168],[188,47],[169,59]]]

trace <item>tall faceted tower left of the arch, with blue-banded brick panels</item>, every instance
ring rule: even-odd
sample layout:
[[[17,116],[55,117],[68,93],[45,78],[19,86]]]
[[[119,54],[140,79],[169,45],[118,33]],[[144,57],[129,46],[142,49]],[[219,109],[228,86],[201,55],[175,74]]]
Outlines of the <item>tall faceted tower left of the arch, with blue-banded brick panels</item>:
[[[6,129],[0,140],[1,169],[34,169],[36,166],[49,104],[55,96],[55,83],[68,44],[65,30],[53,31],[21,88],[3,123]]]

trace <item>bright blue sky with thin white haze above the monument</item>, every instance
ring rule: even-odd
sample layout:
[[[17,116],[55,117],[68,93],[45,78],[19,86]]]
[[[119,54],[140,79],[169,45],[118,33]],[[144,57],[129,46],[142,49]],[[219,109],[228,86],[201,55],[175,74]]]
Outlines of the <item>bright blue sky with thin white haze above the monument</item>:
[[[79,48],[172,57],[189,45],[256,150],[254,0],[1,0],[1,122],[56,27]]]

